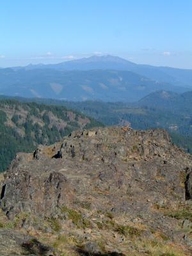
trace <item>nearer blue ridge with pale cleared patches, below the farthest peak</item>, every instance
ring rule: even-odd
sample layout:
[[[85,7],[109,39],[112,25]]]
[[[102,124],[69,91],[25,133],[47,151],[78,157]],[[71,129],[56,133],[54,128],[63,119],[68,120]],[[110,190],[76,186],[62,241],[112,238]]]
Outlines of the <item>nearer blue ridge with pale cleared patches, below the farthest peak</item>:
[[[158,90],[180,93],[186,92],[188,88],[159,83],[134,72],[121,70],[0,70],[1,95],[133,102]]]

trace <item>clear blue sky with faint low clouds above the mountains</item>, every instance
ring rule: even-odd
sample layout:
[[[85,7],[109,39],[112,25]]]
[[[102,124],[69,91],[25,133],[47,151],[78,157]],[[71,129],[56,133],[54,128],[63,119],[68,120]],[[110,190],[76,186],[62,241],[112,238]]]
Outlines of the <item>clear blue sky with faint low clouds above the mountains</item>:
[[[1,0],[0,67],[111,54],[192,69],[191,0]]]

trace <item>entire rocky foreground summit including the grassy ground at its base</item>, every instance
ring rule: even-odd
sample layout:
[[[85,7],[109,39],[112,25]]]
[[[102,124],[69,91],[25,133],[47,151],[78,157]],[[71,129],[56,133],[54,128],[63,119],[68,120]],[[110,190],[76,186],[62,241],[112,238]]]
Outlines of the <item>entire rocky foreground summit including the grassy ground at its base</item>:
[[[191,167],[161,129],[76,131],[17,154],[2,181],[1,255],[191,255]]]

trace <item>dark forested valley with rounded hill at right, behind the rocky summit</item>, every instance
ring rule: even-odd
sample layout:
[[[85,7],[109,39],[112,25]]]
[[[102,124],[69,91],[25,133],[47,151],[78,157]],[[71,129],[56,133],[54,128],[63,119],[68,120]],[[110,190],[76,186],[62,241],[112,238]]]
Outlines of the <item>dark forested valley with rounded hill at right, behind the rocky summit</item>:
[[[2,96],[3,97],[3,96]],[[139,102],[70,102],[19,98],[21,102],[65,106],[92,116],[104,125],[131,125],[134,129],[164,128],[174,143],[192,153],[192,93],[155,92]]]

